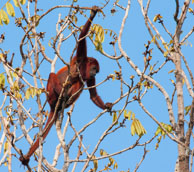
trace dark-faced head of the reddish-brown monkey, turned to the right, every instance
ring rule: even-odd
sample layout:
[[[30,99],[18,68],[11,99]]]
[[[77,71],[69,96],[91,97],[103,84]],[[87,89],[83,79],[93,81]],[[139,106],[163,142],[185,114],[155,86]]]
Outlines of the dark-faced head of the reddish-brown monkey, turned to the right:
[[[87,78],[95,77],[99,70],[100,67],[98,61],[94,58],[89,57],[87,62],[86,77]]]

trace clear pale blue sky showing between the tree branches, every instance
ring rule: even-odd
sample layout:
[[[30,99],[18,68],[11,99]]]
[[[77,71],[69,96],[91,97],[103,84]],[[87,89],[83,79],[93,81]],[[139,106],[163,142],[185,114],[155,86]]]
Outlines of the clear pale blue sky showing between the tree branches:
[[[3,3],[2,3],[3,2]],[[0,2],[0,8],[2,7],[2,4],[4,4],[6,1],[1,0]],[[43,11],[46,11],[47,9],[51,8],[54,5],[62,5],[62,4],[69,4],[70,1],[52,1],[49,0],[45,3],[45,1],[38,2],[38,8],[43,9]],[[80,6],[93,6],[93,5],[100,5],[103,2],[103,0],[100,0],[96,2],[95,0],[84,0],[82,2],[79,1]],[[114,1],[113,1],[114,2]],[[120,2],[122,5],[126,5],[126,2]],[[110,9],[112,8],[112,2],[104,9],[105,17],[102,17],[102,15],[97,15],[94,23],[100,24],[103,28],[112,29],[117,34],[120,30],[120,25],[122,18],[124,16],[124,11],[122,11],[119,8],[116,8],[118,10],[114,15],[110,13]],[[193,7],[193,5],[191,6]],[[16,9],[16,8],[15,8]],[[153,1],[150,5],[150,12],[149,17],[152,20],[156,14],[160,14],[163,16],[164,24],[169,29],[170,32],[174,33],[175,30],[175,22],[173,19],[173,14],[175,11],[175,2],[174,1]],[[54,58],[54,51],[51,47],[48,46],[48,42],[51,39],[51,37],[56,35],[55,31],[55,25],[58,19],[58,14],[61,13],[62,17],[64,18],[67,14],[67,9],[57,9],[51,12],[48,16],[46,16],[39,24],[37,30],[40,32],[46,32],[45,38],[44,38],[44,46],[46,48],[45,52],[50,58]],[[42,12],[40,12],[41,14]],[[89,12],[86,13],[87,16],[89,16]],[[16,16],[20,16],[19,10],[16,9]],[[188,31],[193,27],[193,16],[191,14],[188,14],[187,19],[185,21],[185,24],[183,26],[183,36],[187,34]],[[78,26],[81,26],[85,23],[86,18],[83,16],[78,16]],[[159,23],[155,23],[155,26],[158,28],[162,36],[164,37],[166,42],[170,41],[170,38],[167,36],[167,34],[164,32],[163,28]],[[18,67],[21,63],[21,56],[19,53],[19,44],[21,41],[21,38],[23,36],[23,32],[16,28],[14,25],[14,19],[12,18],[10,20],[10,24],[8,26],[1,26],[0,27],[0,34],[5,33],[5,41],[3,44],[0,44],[0,48],[3,50],[10,50],[11,53],[15,53],[15,59],[14,59],[14,65],[13,67]],[[64,34],[67,35],[69,32],[65,31]],[[193,44],[193,35],[188,39],[188,43]],[[130,56],[130,58],[133,60],[133,62],[138,65],[138,67],[142,70],[144,61],[143,61],[143,55],[142,53],[145,51],[144,44],[147,43],[148,40],[151,40],[150,35],[145,27],[143,16],[140,11],[139,4],[137,1],[131,2],[131,8],[129,12],[129,16],[125,25],[123,37],[122,37],[122,45],[123,49],[127,52],[127,54]],[[103,49],[113,54],[113,49],[111,45],[109,45],[109,36],[106,35],[105,42],[103,43]],[[108,59],[107,57],[104,57],[102,54],[97,52],[95,50],[95,47],[91,43],[89,39],[87,39],[88,43],[88,56],[95,57],[99,63],[100,63],[100,73],[97,75],[97,83],[102,81],[106,78],[107,75],[114,73],[115,70],[119,70],[118,66],[115,61]],[[69,39],[68,41],[64,42],[61,47],[61,56],[64,57],[65,60],[69,60],[69,56],[71,55],[71,52],[73,50],[73,47],[75,45],[74,39]],[[163,57],[163,54],[161,54],[156,46],[154,44],[151,45],[153,48],[153,59],[151,61],[152,65],[158,62],[157,66],[160,66],[164,61],[165,58]],[[183,46],[182,51],[185,55],[185,57],[188,60],[188,63],[190,65],[191,70],[194,68],[194,64],[192,62],[192,56],[194,53],[193,47],[191,47],[189,44]],[[117,53],[120,54],[118,47],[117,47]],[[11,56],[11,55],[10,55]],[[121,59],[120,63],[122,65],[123,70],[123,76],[124,79],[130,83],[129,77],[131,75],[136,75],[134,70],[127,64],[126,60]],[[2,64],[0,64],[0,73],[2,73],[3,68]],[[62,62],[58,60],[56,69],[60,69],[63,66]],[[183,68],[184,65],[183,65]],[[31,69],[28,67],[25,68],[26,70],[31,71]],[[170,70],[174,69],[174,65],[172,63],[168,63],[156,76],[154,76],[154,79],[158,81],[169,93],[169,95],[172,94],[174,87],[171,84],[170,79],[174,80],[173,74],[168,74]],[[40,73],[42,74],[43,78],[48,78],[50,73],[50,65],[48,63],[43,63],[42,68],[40,69]],[[29,76],[25,76],[26,78],[31,80],[31,83],[33,84],[33,80]],[[136,76],[137,77],[137,76]],[[136,79],[136,78],[135,78]],[[46,82],[44,83],[46,86]],[[109,80],[105,84],[99,86],[97,88],[99,95],[104,100],[104,102],[114,102],[116,99],[120,96],[120,83],[119,81],[112,81]],[[126,88],[124,88],[124,91],[127,91]],[[184,93],[185,93],[185,99],[184,103],[185,106],[190,105],[191,98],[188,96],[188,93],[186,91],[186,88],[184,87]],[[130,96],[130,100],[132,99],[133,95]],[[42,102],[44,102],[45,96],[42,96]],[[0,98],[0,102],[1,102]],[[177,108],[176,108],[176,98],[174,100],[173,104],[173,110],[174,114],[176,115]],[[35,105],[36,100],[30,100],[25,103],[25,107],[32,108],[32,113],[37,113],[37,106]],[[146,108],[158,119],[160,122],[164,122],[169,124],[169,116],[167,111],[167,106],[165,99],[163,95],[158,91],[157,88],[153,88],[146,94],[146,96],[143,98],[143,103],[146,106]],[[113,110],[120,110],[122,109],[124,105],[124,101],[119,102],[117,105],[113,107]],[[138,103],[134,102],[129,104],[126,107],[127,110],[131,110],[135,113],[136,117],[141,121],[142,125],[147,130],[147,134],[143,136],[140,143],[143,143],[144,141],[149,140],[155,133],[157,129],[156,123],[152,119],[150,119],[138,106]],[[49,110],[49,106],[47,105],[45,110]],[[66,112],[67,110],[65,110]],[[84,91],[80,98],[77,100],[75,109],[72,115],[72,122],[77,130],[82,128],[86,123],[91,121],[93,118],[95,118],[99,113],[101,112],[101,109],[96,107],[89,99],[89,93],[88,91]],[[64,115],[64,123],[66,121],[66,114]],[[120,121],[121,122],[121,121]],[[109,113],[104,114],[98,122],[96,122],[92,127],[88,128],[84,133],[84,144],[88,148],[88,152],[92,152],[93,148],[95,147],[95,144],[99,137],[102,135],[103,131],[112,123],[112,117],[109,115]],[[30,124],[30,123],[29,123]],[[126,122],[126,128],[120,129],[114,134],[108,136],[100,145],[100,148],[106,150],[107,153],[114,153],[121,149],[124,149],[134,143],[134,141],[137,139],[137,136],[131,136],[130,133],[130,125],[131,122]],[[35,129],[33,132],[31,132],[31,137],[36,134],[38,129]],[[2,131],[0,132],[2,134]],[[19,136],[21,133],[18,129]],[[66,142],[69,141],[69,139],[73,135],[72,129],[68,130],[68,134],[65,138]],[[44,155],[48,158],[48,161],[51,162],[54,152],[55,152],[55,146],[58,143],[58,139],[56,136],[56,129],[53,127],[51,129],[51,132],[49,133],[48,137],[45,140],[44,144]],[[163,172],[163,171],[174,171],[174,166],[177,158],[177,145],[173,141],[171,141],[168,137],[165,139],[162,139],[158,150],[155,150],[155,144],[157,143],[157,140],[155,139],[152,144],[147,145],[147,150],[149,150],[144,162],[142,163],[141,167],[139,168],[139,172]],[[73,145],[73,148],[71,149],[70,159],[75,158],[77,155],[77,142]],[[24,146],[25,145],[25,146]],[[23,152],[26,152],[29,148],[29,144],[27,142],[20,141],[17,143],[17,146],[22,148]],[[136,164],[139,163],[142,155],[143,155],[144,147],[136,147],[134,150],[122,153],[121,155],[114,156],[113,158],[118,163],[118,169],[112,170],[112,171],[127,171],[130,169],[130,171],[133,171],[136,167]],[[14,153],[14,150],[13,150]],[[0,154],[0,157],[2,157],[2,153]],[[99,151],[97,151],[96,156],[99,156]],[[32,158],[33,159],[33,158]],[[61,162],[63,161],[63,156],[61,157]],[[108,161],[105,160],[103,162],[99,162],[99,170],[101,170],[104,165]],[[30,165],[35,165],[36,162],[31,160]],[[83,164],[80,164],[77,166],[76,171],[80,171]],[[58,165],[61,167],[61,163]],[[72,168],[72,166],[71,166]],[[71,169],[70,168],[70,169]],[[93,163],[90,163],[89,168],[87,171],[93,168]],[[6,167],[2,166],[0,167],[3,171],[6,170]],[[22,171],[23,167],[20,166],[20,162],[13,158],[13,171]]]

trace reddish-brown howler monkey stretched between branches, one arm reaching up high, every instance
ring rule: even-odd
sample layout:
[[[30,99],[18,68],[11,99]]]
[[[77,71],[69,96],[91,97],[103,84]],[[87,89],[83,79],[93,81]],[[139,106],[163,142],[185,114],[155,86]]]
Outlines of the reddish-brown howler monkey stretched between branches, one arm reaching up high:
[[[94,19],[98,7],[94,6],[91,10],[91,15],[87,22],[85,23],[83,29],[81,30],[79,36],[79,42],[77,46],[76,55],[73,57],[70,62],[70,68],[68,71],[68,67],[65,66],[61,68],[57,74],[50,73],[48,83],[47,83],[47,92],[48,92],[48,103],[50,105],[50,114],[47,120],[47,123],[43,129],[43,139],[46,138],[49,130],[51,129],[53,123],[56,121],[58,117],[58,112],[62,108],[62,102],[64,103],[64,108],[69,107],[70,105],[77,100],[83,91],[84,83],[86,82],[88,87],[95,85],[95,75],[99,72],[99,64],[98,61],[92,57],[87,57],[87,46],[86,46],[86,38],[85,36],[88,34],[88,31],[91,26],[91,22]],[[64,85],[64,83],[68,81],[68,84]],[[64,87],[64,93],[62,95],[61,103],[58,109],[55,112],[56,103],[58,101],[59,95],[61,93],[62,88]],[[96,88],[92,87],[89,89],[91,100],[101,109],[111,110],[112,104],[106,103],[101,100],[98,96]],[[55,115],[55,116],[54,116]],[[39,147],[39,138],[33,143],[26,155],[20,157],[20,161],[23,165],[27,165],[30,157]]]

